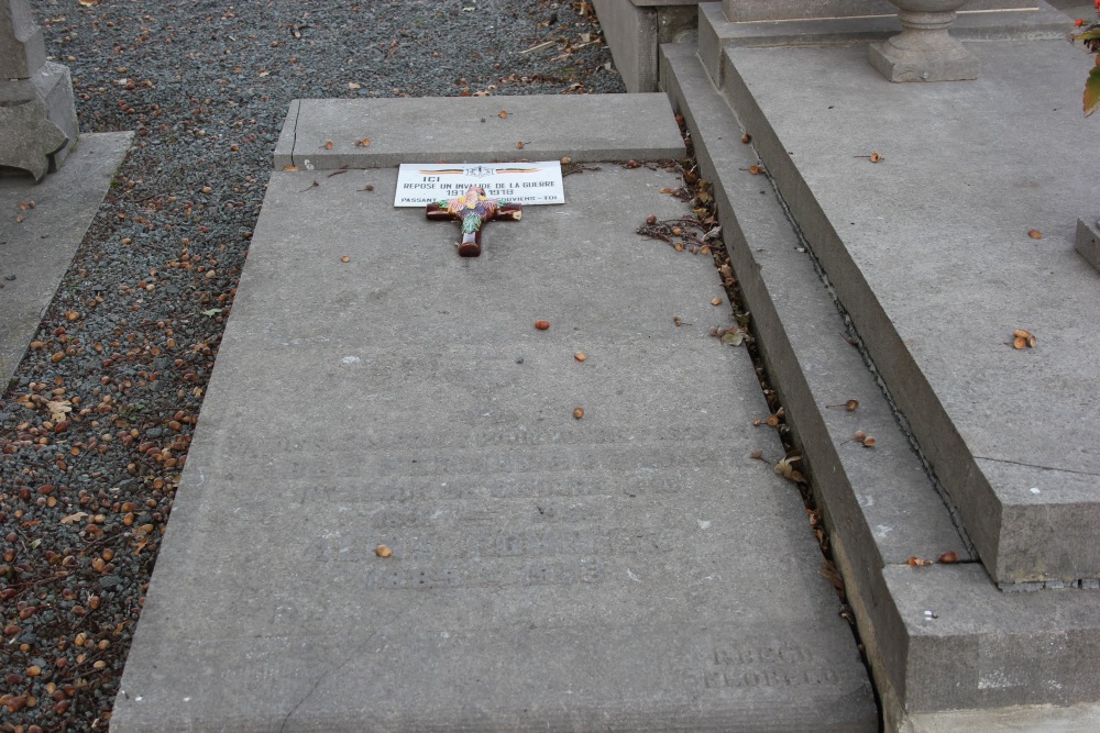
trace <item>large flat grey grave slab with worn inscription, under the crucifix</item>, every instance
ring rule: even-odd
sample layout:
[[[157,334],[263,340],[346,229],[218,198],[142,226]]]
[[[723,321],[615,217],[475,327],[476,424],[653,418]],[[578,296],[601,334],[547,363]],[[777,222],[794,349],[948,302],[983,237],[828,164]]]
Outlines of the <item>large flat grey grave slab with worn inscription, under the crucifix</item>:
[[[273,175],[112,731],[877,730],[676,178],[600,168],[477,259]]]

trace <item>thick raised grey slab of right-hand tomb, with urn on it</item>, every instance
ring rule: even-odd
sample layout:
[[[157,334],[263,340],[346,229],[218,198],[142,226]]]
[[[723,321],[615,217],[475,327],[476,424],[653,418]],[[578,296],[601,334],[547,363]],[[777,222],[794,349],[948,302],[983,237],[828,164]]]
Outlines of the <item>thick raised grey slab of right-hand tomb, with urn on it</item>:
[[[990,574],[1094,582],[1100,289],[1074,243],[1100,149],[1081,56],[968,45],[969,82],[887,84],[842,47],[729,48],[726,78]],[[1016,329],[1036,347],[1013,349]]]

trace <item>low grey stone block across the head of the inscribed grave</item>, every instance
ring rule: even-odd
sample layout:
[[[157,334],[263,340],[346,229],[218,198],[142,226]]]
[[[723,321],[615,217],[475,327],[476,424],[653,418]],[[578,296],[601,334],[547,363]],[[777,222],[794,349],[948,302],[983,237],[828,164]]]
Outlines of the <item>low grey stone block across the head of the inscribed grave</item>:
[[[547,124],[551,119],[561,124]],[[566,156],[578,163],[675,158],[683,156],[683,140],[661,93],[301,99],[290,104],[275,169]]]

